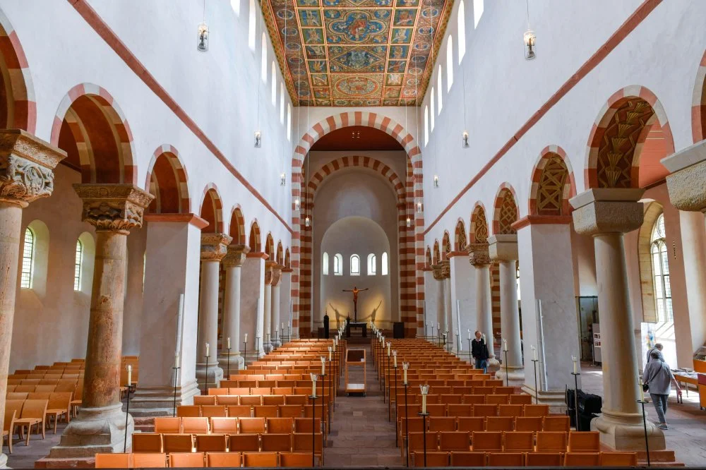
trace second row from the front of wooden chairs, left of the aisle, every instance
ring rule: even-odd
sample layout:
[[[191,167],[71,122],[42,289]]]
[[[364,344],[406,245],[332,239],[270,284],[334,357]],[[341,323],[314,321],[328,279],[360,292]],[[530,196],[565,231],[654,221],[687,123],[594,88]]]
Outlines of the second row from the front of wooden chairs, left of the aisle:
[[[133,434],[133,452],[309,452],[321,454],[323,434]]]

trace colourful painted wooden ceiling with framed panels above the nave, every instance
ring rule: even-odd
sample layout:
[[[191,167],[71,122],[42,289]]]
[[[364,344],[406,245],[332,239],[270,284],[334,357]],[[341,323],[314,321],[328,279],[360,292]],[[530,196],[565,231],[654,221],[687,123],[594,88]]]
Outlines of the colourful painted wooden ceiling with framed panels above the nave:
[[[453,0],[262,0],[301,106],[421,104]]]

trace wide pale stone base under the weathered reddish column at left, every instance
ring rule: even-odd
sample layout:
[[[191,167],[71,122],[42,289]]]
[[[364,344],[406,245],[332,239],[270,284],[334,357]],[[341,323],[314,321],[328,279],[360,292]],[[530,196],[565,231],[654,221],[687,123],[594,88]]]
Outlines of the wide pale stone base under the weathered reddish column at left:
[[[59,445],[49,452],[49,458],[95,457],[97,453],[123,452],[126,434],[122,406],[78,409],[78,416],[68,423]],[[132,416],[128,416],[127,425],[126,452],[130,452],[135,429]]]

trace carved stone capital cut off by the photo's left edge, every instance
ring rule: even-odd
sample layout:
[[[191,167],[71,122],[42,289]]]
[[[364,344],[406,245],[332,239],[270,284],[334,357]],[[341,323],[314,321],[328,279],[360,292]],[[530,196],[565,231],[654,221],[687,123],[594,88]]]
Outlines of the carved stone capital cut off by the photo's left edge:
[[[0,130],[0,201],[27,207],[54,191],[54,168],[66,152],[19,129]]]

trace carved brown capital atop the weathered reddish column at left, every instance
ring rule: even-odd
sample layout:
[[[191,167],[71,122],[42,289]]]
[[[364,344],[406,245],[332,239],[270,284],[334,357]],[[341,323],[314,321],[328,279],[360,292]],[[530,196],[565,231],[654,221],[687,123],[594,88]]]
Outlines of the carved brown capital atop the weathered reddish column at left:
[[[83,222],[96,230],[142,227],[145,208],[155,198],[134,184],[74,184],[73,189],[83,200]]]

